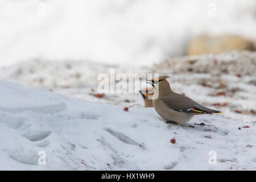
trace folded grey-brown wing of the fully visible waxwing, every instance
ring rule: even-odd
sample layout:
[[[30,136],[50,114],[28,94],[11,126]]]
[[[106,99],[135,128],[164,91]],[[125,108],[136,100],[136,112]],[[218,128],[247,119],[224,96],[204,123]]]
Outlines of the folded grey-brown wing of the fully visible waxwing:
[[[220,111],[209,109],[191,98],[183,96],[181,94],[172,93],[170,96],[164,96],[161,100],[172,110],[195,113],[195,114],[207,114],[207,113],[221,113]]]

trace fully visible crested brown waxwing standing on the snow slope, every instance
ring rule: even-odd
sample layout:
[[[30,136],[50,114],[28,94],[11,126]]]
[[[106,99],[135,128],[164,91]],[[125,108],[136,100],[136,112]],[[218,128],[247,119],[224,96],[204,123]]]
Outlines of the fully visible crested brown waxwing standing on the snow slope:
[[[152,104],[156,112],[166,121],[183,124],[197,114],[221,114],[221,111],[209,109],[191,98],[172,92],[169,82],[170,76],[159,76],[147,80],[154,88]]]

